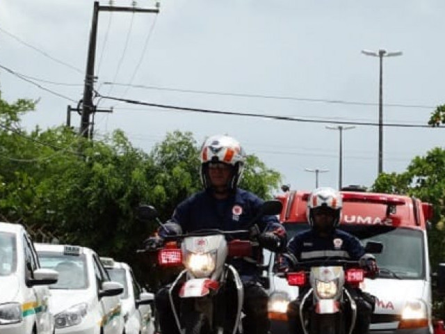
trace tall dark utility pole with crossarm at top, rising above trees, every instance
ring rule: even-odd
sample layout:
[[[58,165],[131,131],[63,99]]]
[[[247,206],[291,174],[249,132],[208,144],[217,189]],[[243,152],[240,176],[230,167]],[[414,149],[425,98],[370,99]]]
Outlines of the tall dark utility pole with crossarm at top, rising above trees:
[[[133,2],[134,3],[134,2]],[[158,7],[158,6],[156,6]],[[88,58],[86,64],[85,86],[83,88],[83,101],[81,108],[81,127],[79,134],[85,138],[92,138],[92,122],[90,116],[96,112],[112,112],[113,110],[98,110],[92,104],[92,95],[94,92],[95,83],[95,55],[96,55],[96,41],[97,41],[97,22],[99,19],[99,12],[130,12],[130,13],[159,13],[159,8],[136,8],[136,7],[115,7],[115,6],[100,6],[99,1],[95,1],[92,10],[92,25],[90,31],[90,43],[88,45]],[[90,127],[91,126],[91,127]]]

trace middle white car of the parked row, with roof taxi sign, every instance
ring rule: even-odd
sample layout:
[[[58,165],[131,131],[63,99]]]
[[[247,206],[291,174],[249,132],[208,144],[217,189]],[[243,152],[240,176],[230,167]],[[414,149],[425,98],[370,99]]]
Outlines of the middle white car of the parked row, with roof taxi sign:
[[[56,334],[123,334],[120,283],[110,280],[97,254],[90,248],[35,244],[44,268],[59,273],[51,286],[49,310]]]

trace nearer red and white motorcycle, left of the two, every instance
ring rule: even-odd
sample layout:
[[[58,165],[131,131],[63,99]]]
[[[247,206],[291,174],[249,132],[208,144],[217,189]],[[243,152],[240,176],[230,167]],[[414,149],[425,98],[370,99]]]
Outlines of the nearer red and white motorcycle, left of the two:
[[[257,218],[279,214],[281,209],[277,200],[264,202]],[[246,233],[251,231],[199,230],[164,238],[159,266],[184,266],[169,289],[180,333],[243,333],[243,283],[228,260],[252,255],[257,242],[238,239]]]

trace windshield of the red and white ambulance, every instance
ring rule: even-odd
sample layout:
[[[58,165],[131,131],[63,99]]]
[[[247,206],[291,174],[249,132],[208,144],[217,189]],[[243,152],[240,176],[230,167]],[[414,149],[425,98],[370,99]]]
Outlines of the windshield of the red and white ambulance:
[[[285,223],[284,226],[289,239],[309,228],[307,223]],[[380,278],[425,278],[425,245],[421,231],[384,225],[340,225],[340,228],[354,234],[364,246],[367,241],[383,244],[382,253],[375,254],[381,269]]]

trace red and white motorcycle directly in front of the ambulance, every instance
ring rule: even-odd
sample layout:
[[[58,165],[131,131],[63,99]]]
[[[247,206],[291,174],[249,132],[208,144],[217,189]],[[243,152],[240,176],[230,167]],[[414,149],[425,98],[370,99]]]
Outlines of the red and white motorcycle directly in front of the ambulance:
[[[369,241],[366,253],[381,253],[382,244]],[[293,265],[286,276],[289,285],[298,286],[300,321],[305,334],[351,334],[360,315],[351,295],[364,281],[367,271],[358,261],[314,260]]]

